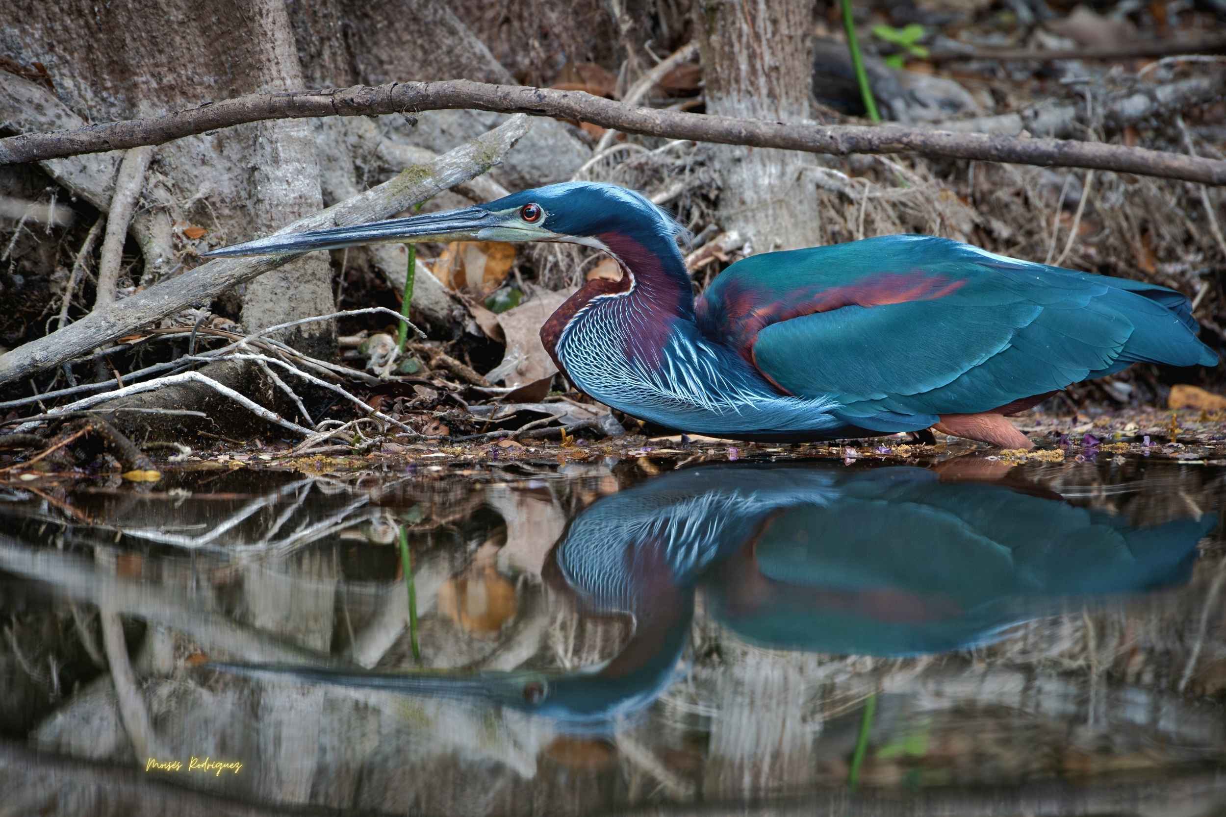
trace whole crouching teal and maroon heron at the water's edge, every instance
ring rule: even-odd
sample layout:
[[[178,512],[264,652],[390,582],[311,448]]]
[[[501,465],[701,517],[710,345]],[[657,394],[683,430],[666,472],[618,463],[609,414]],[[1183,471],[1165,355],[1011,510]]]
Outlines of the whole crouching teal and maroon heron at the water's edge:
[[[832,440],[935,429],[1007,448],[1005,419],[1133,363],[1217,364],[1179,293],[924,235],[754,255],[698,299],[680,228],[608,184],[525,190],[462,209],[273,235],[210,256],[373,243],[568,241],[611,254],[541,339],[591,397],[680,431]]]

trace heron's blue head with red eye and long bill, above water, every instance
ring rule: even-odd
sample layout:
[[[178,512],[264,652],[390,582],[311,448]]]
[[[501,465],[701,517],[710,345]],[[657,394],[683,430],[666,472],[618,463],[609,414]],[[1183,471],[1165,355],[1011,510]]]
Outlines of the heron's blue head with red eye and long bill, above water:
[[[676,246],[673,236],[679,232],[672,216],[638,192],[595,181],[570,181],[461,209],[270,235],[205,255],[272,255],[417,241],[568,241],[607,250],[623,239],[646,246],[661,241]]]

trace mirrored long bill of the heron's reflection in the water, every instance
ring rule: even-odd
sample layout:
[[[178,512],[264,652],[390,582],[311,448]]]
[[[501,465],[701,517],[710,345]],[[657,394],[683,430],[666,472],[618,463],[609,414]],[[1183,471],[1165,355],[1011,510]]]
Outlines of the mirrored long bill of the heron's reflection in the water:
[[[479,672],[457,675],[450,672],[380,672],[326,666],[299,666],[292,664],[230,664],[210,661],[207,669],[260,677],[266,680],[297,681],[302,683],[327,683],[332,686],[384,690],[400,695],[419,695],[440,698],[467,698],[485,701],[516,699],[525,690],[532,691],[533,682],[543,681],[535,672]]]

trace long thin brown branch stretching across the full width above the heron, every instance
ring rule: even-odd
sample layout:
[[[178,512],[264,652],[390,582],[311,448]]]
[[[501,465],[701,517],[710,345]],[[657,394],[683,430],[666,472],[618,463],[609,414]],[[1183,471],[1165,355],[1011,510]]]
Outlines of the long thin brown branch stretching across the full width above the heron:
[[[20,164],[139,145],[161,145],[192,134],[266,119],[369,116],[468,108],[573,119],[626,134],[698,142],[774,147],[832,156],[920,153],[953,159],[1094,168],[1211,185],[1226,184],[1226,160],[1194,158],[1140,147],[949,134],[894,125],[875,127],[788,125],[755,119],[635,108],[579,91],[501,86],[468,80],[391,82],[331,91],[257,93],[152,119],[130,119],[71,131],[10,136],[0,140],[0,164]],[[6,372],[0,372],[0,382],[6,378]]]

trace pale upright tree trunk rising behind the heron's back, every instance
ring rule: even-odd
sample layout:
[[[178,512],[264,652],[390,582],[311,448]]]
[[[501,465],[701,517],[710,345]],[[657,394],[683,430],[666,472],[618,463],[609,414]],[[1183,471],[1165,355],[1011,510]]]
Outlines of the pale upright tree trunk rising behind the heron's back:
[[[809,119],[813,4],[805,0],[699,0],[694,5],[706,110],[723,116]],[[812,156],[718,147],[720,219],[747,252],[820,241],[817,194],[803,168]]]

